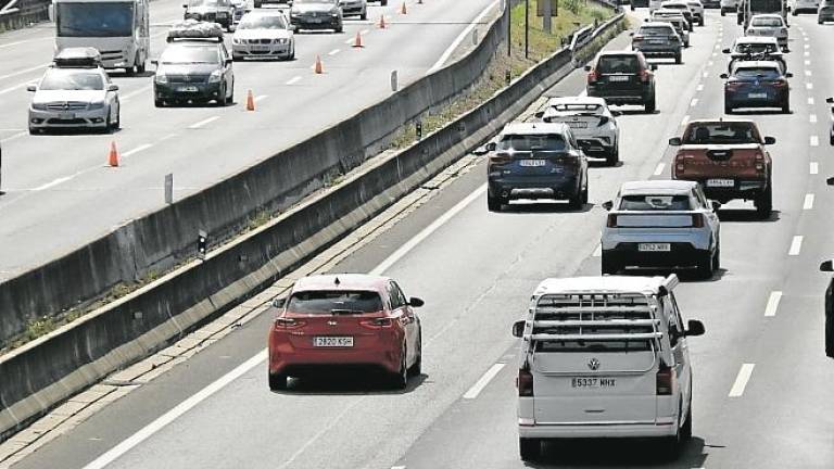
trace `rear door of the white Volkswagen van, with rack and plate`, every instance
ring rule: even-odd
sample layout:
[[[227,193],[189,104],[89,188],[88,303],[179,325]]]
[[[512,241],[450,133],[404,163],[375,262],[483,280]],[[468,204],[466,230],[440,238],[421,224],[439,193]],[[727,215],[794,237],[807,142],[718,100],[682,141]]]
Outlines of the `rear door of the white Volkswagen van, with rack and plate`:
[[[543,295],[530,340],[542,424],[654,423],[660,338],[641,294]]]

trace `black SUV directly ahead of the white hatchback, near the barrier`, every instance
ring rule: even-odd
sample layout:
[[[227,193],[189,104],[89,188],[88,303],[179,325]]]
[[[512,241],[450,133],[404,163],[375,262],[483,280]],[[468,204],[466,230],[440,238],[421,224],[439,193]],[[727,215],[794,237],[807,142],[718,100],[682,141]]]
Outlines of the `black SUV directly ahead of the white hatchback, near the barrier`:
[[[601,52],[587,71],[587,96],[604,98],[611,105],[639,104],[647,113],[657,109],[655,74],[641,52]]]

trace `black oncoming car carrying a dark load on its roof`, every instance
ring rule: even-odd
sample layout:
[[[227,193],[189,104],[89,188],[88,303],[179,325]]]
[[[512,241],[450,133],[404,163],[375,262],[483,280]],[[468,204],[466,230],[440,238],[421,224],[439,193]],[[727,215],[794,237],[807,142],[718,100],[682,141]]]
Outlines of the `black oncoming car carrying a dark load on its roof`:
[[[232,60],[223,43],[223,31],[212,24],[189,24],[172,29],[153,78],[156,107],[178,103],[231,104],[235,97]],[[185,37],[184,37],[185,36]]]

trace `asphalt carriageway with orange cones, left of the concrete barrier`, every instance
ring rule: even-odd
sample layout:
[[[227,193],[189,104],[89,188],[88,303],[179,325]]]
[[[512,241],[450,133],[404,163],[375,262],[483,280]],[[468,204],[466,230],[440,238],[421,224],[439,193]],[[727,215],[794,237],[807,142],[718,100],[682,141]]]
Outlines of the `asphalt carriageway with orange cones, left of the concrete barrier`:
[[[491,18],[482,13],[497,5],[494,0],[418,5],[415,0],[402,15],[401,3],[372,3],[367,22],[346,18],[343,34],[298,35],[295,61],[236,63],[232,106],[155,109],[152,66],[142,77],[114,73],[123,102],[123,129],[115,135],[29,136],[26,85],[51,61],[54,30],[47,24],[0,37],[7,192],[0,198],[0,281],[163,206],[168,173],[175,199],[181,199],[382,100],[391,93],[392,71],[402,86],[442,66],[456,38],[471,30],[473,21]],[[383,14],[390,23],[384,30],[375,24]],[[179,0],[152,3],[153,58],[164,48],[167,25],[181,17]],[[363,49],[351,48],[356,33],[363,34]],[[313,74],[316,55],[324,62],[323,75]],[[250,89],[256,112],[248,113]],[[105,167],[111,141],[122,155],[117,169]],[[55,227],[60,237],[53,236]]]

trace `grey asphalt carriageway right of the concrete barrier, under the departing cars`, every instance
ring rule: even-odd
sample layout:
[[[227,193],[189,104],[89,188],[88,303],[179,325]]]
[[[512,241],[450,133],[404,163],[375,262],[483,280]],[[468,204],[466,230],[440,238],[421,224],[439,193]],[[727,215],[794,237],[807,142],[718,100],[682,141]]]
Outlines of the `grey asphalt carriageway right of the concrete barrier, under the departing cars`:
[[[678,461],[660,460],[649,442],[591,441],[545,446],[543,460],[526,466],[510,325],[542,279],[598,275],[599,204],[623,181],[668,178],[668,138],[690,119],[722,115],[720,50],[740,29],[716,10],[693,34],[684,64],[660,65],[658,113],[619,118],[622,165],[591,168],[583,210],[529,203],[490,213],[481,161],[332,269],[387,266],[383,274],[406,294],[426,300],[424,373],[404,392],[364,376],[298,380],[269,392],[271,317],[263,314],[15,468],[832,467],[834,367],[824,357],[822,309],[829,279],[817,266],[834,251],[834,220],[824,215],[834,202],[825,186],[834,163],[824,102],[834,58],[830,26],[810,15],[791,21],[793,112],[749,114],[776,138],[774,213],[758,220],[751,204],[722,207],[721,270],[709,281],[683,276],[677,289],[684,320],[707,329],[690,341],[694,438]],[[627,47],[627,34],[609,45]],[[577,94],[584,83],[577,71],[547,94]],[[409,241],[412,250],[397,251]]]

